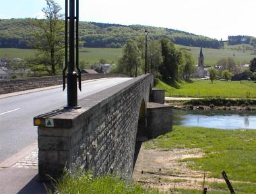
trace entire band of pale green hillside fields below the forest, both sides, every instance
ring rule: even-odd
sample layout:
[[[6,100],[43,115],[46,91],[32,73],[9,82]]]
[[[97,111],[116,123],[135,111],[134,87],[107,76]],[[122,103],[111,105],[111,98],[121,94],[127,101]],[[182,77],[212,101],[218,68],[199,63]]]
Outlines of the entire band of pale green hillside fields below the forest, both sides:
[[[198,63],[199,57],[199,47],[193,46],[183,46],[176,44],[179,48],[185,48],[189,53],[191,53],[195,59],[195,64]],[[225,49],[212,49],[203,48],[203,55],[205,59],[205,65],[215,65],[218,60],[224,57],[234,57],[234,61],[238,64],[249,63],[253,57],[256,55],[251,55],[251,50],[246,50],[249,46],[226,46]],[[243,49],[245,48],[245,53]],[[250,47],[251,49],[251,47]],[[32,49],[18,49],[18,48],[0,48],[0,59],[13,59],[19,57],[24,59],[34,54]],[[122,55],[122,48],[81,48],[79,50],[79,60],[84,60],[86,63],[95,63],[100,59],[105,59],[108,63],[117,63],[117,60]]]

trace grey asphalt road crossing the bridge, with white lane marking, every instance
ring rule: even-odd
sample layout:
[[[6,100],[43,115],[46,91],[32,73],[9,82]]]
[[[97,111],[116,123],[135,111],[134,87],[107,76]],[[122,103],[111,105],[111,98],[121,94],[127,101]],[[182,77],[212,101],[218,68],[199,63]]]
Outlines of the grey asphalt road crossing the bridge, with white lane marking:
[[[115,86],[131,78],[96,79],[82,84],[78,99]],[[37,140],[33,118],[67,104],[62,87],[0,99],[0,162]]]

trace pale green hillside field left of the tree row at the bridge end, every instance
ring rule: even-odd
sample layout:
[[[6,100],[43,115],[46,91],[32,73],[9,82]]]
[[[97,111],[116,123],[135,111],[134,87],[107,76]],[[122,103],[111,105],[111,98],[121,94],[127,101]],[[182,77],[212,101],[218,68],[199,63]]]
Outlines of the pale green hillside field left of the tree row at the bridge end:
[[[15,57],[24,59],[34,55],[33,49],[0,48],[0,59],[13,59]],[[105,59],[108,63],[117,63],[122,55],[121,48],[81,48],[79,49],[79,60],[88,63],[98,62]]]

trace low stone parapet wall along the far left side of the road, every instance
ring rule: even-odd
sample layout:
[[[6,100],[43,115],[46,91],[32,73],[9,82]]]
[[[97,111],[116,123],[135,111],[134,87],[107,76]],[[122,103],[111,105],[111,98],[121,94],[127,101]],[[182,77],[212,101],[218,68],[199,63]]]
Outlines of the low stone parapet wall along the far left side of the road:
[[[123,74],[114,73],[98,73],[98,74],[82,74],[82,81],[90,79],[100,79],[107,77],[127,77]],[[63,77],[47,76],[47,77],[30,77],[22,79],[8,79],[0,81],[0,94],[7,94],[11,92],[19,92],[24,90],[32,90],[35,88],[44,88],[48,86],[56,86],[63,84]]]

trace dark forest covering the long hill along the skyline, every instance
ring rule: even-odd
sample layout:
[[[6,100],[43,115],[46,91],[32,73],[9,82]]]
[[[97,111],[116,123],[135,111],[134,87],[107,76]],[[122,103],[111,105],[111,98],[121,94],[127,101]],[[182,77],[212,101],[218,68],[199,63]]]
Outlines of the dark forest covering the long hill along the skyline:
[[[31,38],[31,19],[0,20],[0,48],[29,48],[27,42]],[[185,46],[203,46],[220,48],[222,42],[216,39],[198,36],[180,30],[157,28],[152,26],[121,24],[102,24],[95,22],[79,22],[79,38],[85,47],[120,48],[127,39],[144,36],[145,29],[151,40],[168,38],[175,44]],[[231,37],[231,36],[230,36]]]

